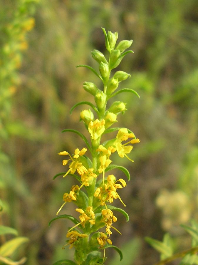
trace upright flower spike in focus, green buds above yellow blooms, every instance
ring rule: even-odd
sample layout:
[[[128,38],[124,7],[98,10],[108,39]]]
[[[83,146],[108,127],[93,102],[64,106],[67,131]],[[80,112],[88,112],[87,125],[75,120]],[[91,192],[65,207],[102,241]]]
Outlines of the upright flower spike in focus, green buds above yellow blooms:
[[[102,28],[103,29],[103,28]],[[116,46],[118,39],[118,33],[108,32],[103,29],[105,36],[105,46],[109,52],[109,59],[107,60],[103,53],[98,50],[93,50],[92,57],[98,62],[99,72],[88,65],[78,65],[78,67],[87,67],[90,69],[103,83],[103,91],[100,90],[94,83],[84,82],[83,88],[91,95],[94,96],[95,104],[91,102],[83,101],[75,104],[73,109],[79,105],[89,105],[97,115],[95,118],[92,110],[86,109],[80,112],[80,120],[84,122],[86,129],[88,130],[90,141],[77,130],[66,129],[63,132],[74,132],[79,135],[86,144],[81,150],[76,148],[74,154],[69,154],[67,151],[61,151],[58,155],[64,157],[63,166],[68,166],[68,169],[64,173],[57,174],[63,175],[63,178],[67,175],[71,175],[79,181],[79,185],[73,185],[71,191],[64,193],[63,204],[57,212],[61,211],[63,206],[67,202],[73,202],[78,208],[75,209],[79,213],[78,221],[73,216],[63,214],[52,219],[49,223],[58,218],[67,218],[74,223],[74,226],[68,229],[67,243],[70,248],[75,248],[75,262],[70,260],[57,261],[55,264],[104,264],[105,249],[114,248],[122,259],[121,250],[112,245],[110,236],[112,231],[121,232],[114,227],[113,223],[117,221],[117,217],[114,215],[115,211],[122,213],[126,220],[129,220],[128,214],[121,208],[112,206],[111,204],[115,199],[119,199],[123,206],[125,203],[120,198],[118,193],[119,189],[126,187],[126,182],[122,178],[116,178],[112,174],[107,172],[113,169],[122,170],[127,179],[130,180],[130,173],[122,166],[112,164],[110,156],[112,153],[117,152],[121,158],[129,158],[128,154],[133,148],[133,144],[139,143],[134,133],[127,128],[113,127],[110,128],[115,122],[117,122],[117,116],[120,113],[124,113],[126,104],[120,101],[113,102],[110,107],[107,107],[108,100],[115,95],[122,92],[132,92],[139,97],[137,92],[129,88],[123,88],[115,92],[118,89],[120,82],[130,77],[123,71],[114,72],[111,77],[111,71],[118,67],[123,57],[132,53],[128,50],[132,40],[122,40]],[[115,138],[102,142],[102,136],[104,134],[110,134],[111,132],[118,131]],[[91,158],[86,156],[87,149],[89,149]],[[101,176],[101,177],[100,177]],[[103,257],[101,257],[101,250],[103,250]]]

